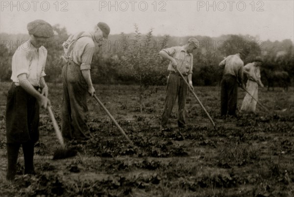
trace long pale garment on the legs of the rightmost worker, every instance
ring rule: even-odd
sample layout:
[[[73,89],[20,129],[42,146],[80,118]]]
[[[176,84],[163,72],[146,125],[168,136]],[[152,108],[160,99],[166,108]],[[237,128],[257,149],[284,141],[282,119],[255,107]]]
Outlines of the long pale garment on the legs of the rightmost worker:
[[[246,89],[256,100],[258,100],[258,84],[256,82],[247,80]],[[255,112],[256,104],[257,102],[248,93],[246,93],[241,110]]]

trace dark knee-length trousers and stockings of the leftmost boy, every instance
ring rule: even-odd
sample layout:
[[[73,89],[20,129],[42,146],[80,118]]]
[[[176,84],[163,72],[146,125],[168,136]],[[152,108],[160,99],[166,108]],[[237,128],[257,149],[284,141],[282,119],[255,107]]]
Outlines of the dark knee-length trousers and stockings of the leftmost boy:
[[[38,87],[35,87],[38,89]],[[25,173],[33,174],[34,144],[39,139],[39,104],[21,86],[12,84],[6,102],[6,138],[8,170],[6,178],[13,180],[20,146],[23,146]]]

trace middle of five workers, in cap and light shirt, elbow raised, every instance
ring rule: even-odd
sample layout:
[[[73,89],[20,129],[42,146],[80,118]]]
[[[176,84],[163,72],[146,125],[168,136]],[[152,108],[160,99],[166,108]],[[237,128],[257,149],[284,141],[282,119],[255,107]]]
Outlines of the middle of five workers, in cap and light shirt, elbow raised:
[[[164,110],[161,117],[161,131],[167,130],[167,123],[172,112],[172,108],[176,98],[178,97],[178,128],[185,128],[185,105],[188,94],[188,86],[183,81],[175,67],[183,74],[189,85],[192,85],[192,69],[193,69],[193,51],[199,47],[199,42],[196,38],[190,38],[187,44],[183,46],[173,46],[163,49],[159,54],[170,60],[168,71],[170,72],[167,84],[167,95],[165,99]]]

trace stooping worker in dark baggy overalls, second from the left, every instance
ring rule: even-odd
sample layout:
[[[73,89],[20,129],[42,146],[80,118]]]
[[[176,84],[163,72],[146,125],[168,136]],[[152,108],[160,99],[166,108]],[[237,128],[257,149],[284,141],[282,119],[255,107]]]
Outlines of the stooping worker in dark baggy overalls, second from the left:
[[[79,32],[63,44],[66,63],[62,69],[62,135],[66,140],[84,141],[90,138],[87,125],[87,94],[94,95],[90,69],[95,43],[107,39],[109,26],[95,25],[92,32]]]

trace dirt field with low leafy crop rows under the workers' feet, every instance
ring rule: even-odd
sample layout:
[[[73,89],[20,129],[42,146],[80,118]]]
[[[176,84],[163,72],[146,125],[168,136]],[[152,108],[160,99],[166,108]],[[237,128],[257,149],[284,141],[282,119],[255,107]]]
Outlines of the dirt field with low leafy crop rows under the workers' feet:
[[[5,180],[5,103],[8,86],[0,96],[0,196],[294,196],[294,89],[260,90],[260,101],[270,113],[240,114],[221,120],[220,88],[195,87],[213,117],[214,131],[204,111],[189,94],[187,128],[181,136],[160,134],[165,87],[146,95],[140,113],[137,87],[96,86],[98,98],[113,114],[136,148],[93,98],[88,98],[93,139],[72,142],[78,155],[51,160],[59,147],[49,115],[41,109],[40,140],[35,145],[37,175],[23,175],[22,150],[14,183]],[[61,85],[50,85],[49,98],[61,121]],[[238,108],[245,92],[239,89]],[[176,110],[170,119],[176,130]]]

